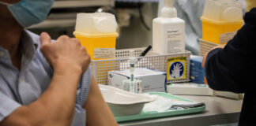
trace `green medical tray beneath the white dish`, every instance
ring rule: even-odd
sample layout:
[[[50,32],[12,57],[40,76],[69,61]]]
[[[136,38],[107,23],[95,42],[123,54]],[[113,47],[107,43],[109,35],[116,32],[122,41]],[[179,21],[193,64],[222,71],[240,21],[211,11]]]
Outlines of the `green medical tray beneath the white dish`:
[[[168,98],[171,100],[194,102],[187,98],[182,98],[176,95],[171,95],[163,92],[152,92],[152,93],[149,93],[149,95],[160,95],[164,98]],[[115,120],[117,120],[120,123],[125,121],[132,121],[132,120],[145,120],[145,119],[153,119],[153,118],[160,118],[160,117],[174,117],[179,115],[187,115],[191,113],[201,113],[205,111],[205,107],[206,106],[194,107],[189,109],[168,109],[168,110],[165,110],[164,112],[156,112],[156,111],[145,112],[145,113],[141,112],[140,114],[132,115],[132,116],[115,117]]]

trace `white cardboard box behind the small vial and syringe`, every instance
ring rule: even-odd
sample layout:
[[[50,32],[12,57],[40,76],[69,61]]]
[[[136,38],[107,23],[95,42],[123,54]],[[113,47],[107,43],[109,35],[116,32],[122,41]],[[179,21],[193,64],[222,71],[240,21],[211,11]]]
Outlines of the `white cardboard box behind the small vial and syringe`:
[[[141,79],[142,92],[166,92],[166,72],[138,68],[134,69],[134,78]],[[107,72],[107,85],[122,89],[122,80],[130,79],[130,69]]]

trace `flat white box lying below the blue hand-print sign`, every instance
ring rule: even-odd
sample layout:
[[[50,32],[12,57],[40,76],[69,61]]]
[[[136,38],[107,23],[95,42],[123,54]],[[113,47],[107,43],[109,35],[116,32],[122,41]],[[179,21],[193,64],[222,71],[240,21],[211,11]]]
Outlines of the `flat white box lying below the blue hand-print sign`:
[[[213,90],[206,84],[172,83],[168,85],[168,93],[173,95],[213,95]]]

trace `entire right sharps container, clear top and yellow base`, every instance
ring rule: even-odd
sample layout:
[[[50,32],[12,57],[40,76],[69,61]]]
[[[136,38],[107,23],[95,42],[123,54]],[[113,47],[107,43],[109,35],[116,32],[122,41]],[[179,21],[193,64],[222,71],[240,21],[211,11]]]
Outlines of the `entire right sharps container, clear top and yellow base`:
[[[202,39],[225,44],[243,25],[243,3],[236,0],[206,0],[202,21]]]

